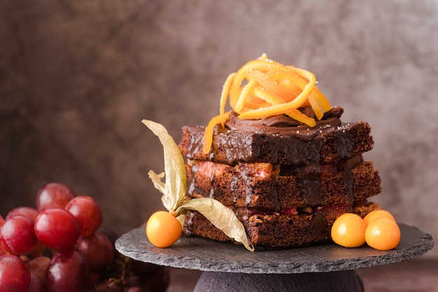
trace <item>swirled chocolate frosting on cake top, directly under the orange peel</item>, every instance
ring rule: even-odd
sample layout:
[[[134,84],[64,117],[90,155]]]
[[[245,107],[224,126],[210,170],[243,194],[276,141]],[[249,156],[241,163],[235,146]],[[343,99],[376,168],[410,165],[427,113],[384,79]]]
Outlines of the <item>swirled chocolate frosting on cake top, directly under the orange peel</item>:
[[[301,108],[304,115],[315,118],[313,110],[310,107]],[[241,130],[254,133],[272,133],[281,134],[284,136],[313,136],[318,134],[318,131],[327,126],[341,126],[341,115],[344,108],[340,106],[334,107],[325,112],[320,121],[317,120],[316,126],[309,127],[302,124],[287,115],[275,115],[265,117],[264,119],[239,119],[236,112],[232,112],[225,123],[225,127],[231,130]]]

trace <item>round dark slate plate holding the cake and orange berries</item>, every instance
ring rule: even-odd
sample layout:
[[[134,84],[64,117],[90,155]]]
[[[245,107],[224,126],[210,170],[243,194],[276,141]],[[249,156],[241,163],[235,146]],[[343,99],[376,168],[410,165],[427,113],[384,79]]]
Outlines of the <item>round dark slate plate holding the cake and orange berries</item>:
[[[292,274],[332,272],[386,265],[421,256],[432,249],[434,240],[414,226],[399,224],[400,244],[390,251],[365,246],[345,248],[323,244],[274,251],[246,250],[241,245],[204,238],[182,236],[171,247],[154,247],[146,238],[145,228],[136,228],[115,242],[116,249],[137,261],[174,268],[248,274]]]

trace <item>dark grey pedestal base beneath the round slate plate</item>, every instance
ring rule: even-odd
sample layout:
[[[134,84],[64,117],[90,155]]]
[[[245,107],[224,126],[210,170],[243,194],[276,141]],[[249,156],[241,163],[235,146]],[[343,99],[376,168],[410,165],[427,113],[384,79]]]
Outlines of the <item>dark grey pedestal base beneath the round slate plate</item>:
[[[248,274],[202,272],[194,292],[310,292],[365,291],[362,279],[354,270],[304,272],[301,274]]]

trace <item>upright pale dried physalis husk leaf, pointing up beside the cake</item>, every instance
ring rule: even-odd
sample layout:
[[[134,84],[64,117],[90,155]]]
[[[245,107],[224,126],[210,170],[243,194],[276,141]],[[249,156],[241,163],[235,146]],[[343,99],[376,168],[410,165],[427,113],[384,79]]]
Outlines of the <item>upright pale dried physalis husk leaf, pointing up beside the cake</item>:
[[[166,128],[162,124],[143,119],[141,121],[150,131],[158,136],[164,148],[164,173],[166,182],[161,180],[164,175],[157,175],[150,171],[149,177],[153,181],[154,187],[162,192],[162,202],[164,207],[173,213],[178,205],[181,205],[185,198],[185,191],[187,188],[187,179],[185,177],[185,163],[183,154],[178,149],[174,138],[167,133]]]

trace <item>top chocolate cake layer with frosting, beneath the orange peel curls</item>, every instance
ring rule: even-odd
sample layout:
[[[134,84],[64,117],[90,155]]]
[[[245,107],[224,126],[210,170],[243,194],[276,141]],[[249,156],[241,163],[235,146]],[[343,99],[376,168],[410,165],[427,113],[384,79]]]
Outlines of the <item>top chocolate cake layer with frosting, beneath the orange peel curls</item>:
[[[209,154],[202,152],[203,127],[184,126],[178,147],[188,159],[228,165],[240,162],[325,164],[371,150],[374,141],[369,124],[343,123],[339,119],[341,112],[341,108],[335,108],[310,129],[306,125],[287,124],[285,116],[243,121],[230,115],[225,128],[216,127]]]

